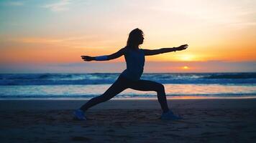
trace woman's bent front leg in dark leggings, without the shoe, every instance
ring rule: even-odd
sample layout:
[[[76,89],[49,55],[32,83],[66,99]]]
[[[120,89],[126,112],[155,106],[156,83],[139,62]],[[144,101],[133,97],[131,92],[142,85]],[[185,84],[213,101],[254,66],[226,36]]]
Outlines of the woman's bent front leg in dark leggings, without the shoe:
[[[137,82],[134,82],[131,87],[131,89],[135,90],[141,90],[141,91],[155,91],[157,92],[157,99],[158,102],[161,105],[161,108],[163,109],[163,112],[168,112],[168,104],[166,101],[166,95],[165,95],[165,87],[163,84],[152,82],[148,80],[138,80]]]

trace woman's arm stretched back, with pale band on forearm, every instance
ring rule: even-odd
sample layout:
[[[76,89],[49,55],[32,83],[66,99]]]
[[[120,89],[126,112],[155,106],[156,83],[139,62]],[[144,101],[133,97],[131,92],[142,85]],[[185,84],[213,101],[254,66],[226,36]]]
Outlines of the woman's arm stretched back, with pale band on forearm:
[[[111,59],[119,58],[124,55],[126,48],[122,48],[119,51],[116,51],[114,54],[109,54],[105,56],[81,56],[83,61],[108,61]]]

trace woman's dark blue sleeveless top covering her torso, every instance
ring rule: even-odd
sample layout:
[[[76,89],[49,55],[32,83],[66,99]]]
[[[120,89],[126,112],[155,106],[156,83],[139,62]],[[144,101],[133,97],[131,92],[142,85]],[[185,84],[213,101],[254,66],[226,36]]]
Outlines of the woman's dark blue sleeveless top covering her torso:
[[[143,49],[135,50],[127,48],[124,58],[127,63],[127,69],[125,69],[121,75],[127,79],[140,79],[145,64],[145,54]]]

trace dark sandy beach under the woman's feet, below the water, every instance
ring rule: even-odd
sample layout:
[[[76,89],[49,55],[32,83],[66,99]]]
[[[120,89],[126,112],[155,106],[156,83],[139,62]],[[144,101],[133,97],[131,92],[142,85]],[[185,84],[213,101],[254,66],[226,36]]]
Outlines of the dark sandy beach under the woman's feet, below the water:
[[[184,119],[163,121],[156,99],[110,100],[73,120],[86,100],[0,100],[0,142],[255,142],[256,99],[169,99]]]

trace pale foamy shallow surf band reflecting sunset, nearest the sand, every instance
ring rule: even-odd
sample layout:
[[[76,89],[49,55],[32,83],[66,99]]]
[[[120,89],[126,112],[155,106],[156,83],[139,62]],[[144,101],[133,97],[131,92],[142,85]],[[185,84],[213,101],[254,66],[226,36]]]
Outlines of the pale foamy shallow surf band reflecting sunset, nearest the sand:
[[[34,95],[37,95],[35,99],[91,99],[104,93],[110,86],[111,84],[9,86],[8,88],[0,86],[0,95],[6,97],[17,95],[18,99],[22,97],[24,99],[32,99]],[[164,86],[168,99],[256,98],[254,85],[164,84]],[[244,93],[248,95],[243,95]],[[157,99],[157,93],[127,89],[114,99]]]

